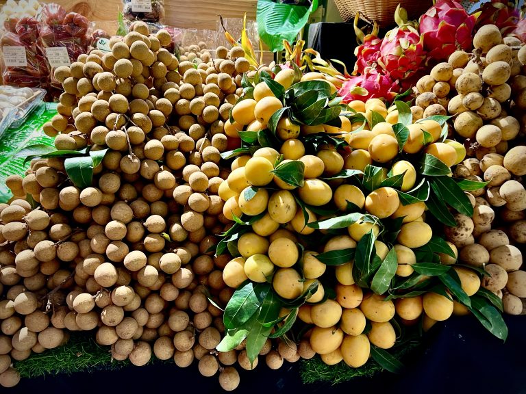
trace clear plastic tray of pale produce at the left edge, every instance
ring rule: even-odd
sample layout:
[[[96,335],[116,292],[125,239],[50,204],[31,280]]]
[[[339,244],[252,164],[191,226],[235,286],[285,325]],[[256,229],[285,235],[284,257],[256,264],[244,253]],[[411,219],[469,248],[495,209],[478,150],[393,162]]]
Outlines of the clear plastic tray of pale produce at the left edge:
[[[14,115],[8,127],[20,127],[27,116],[42,103],[45,95],[44,89],[0,86],[0,111],[3,112],[8,108],[14,109]]]

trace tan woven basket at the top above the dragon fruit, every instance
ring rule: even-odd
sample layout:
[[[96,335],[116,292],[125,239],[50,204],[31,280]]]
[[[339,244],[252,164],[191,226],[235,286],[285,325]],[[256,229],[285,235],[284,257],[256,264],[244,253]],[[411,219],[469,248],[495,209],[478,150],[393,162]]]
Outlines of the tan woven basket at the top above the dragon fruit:
[[[380,28],[391,27],[395,23],[397,5],[405,8],[410,21],[417,19],[433,5],[431,0],[334,0],[340,16],[345,22],[353,21],[356,12],[365,21],[376,21]]]

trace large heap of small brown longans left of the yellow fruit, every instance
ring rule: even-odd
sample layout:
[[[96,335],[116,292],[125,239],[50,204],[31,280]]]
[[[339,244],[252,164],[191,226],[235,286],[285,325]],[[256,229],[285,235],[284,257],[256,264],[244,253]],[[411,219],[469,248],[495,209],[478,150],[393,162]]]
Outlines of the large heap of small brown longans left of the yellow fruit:
[[[89,187],[68,178],[63,157],[33,159],[6,181],[14,197],[0,205],[2,386],[20,379],[12,360],[79,330],[134,365],[152,354],[179,367],[199,360],[225,390],[239,384],[235,363],[250,367],[244,352],[214,350],[223,312],[208,299],[224,308],[234,292],[222,275],[229,256],[211,249],[229,222],[220,154],[237,147],[224,124],[250,65],[240,47],[219,47],[213,59],[191,47],[196,56],[178,60],[169,45],[168,32],[136,22],[110,40],[111,52],[55,70],[64,93],[45,133],[58,150],[108,151]]]

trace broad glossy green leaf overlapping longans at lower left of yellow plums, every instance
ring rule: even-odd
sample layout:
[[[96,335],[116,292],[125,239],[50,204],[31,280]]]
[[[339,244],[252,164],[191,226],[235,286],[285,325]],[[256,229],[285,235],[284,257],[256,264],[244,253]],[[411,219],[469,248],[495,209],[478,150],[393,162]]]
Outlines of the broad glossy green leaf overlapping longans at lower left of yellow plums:
[[[259,310],[271,285],[268,283],[245,283],[234,291],[234,295],[229,300],[223,315],[225,328],[234,330],[240,328]]]

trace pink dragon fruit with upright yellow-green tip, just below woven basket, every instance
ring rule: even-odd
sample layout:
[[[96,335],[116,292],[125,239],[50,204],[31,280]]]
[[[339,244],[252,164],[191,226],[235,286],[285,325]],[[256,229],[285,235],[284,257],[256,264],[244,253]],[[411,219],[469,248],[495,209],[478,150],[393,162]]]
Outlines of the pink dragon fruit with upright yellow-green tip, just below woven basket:
[[[377,62],[393,80],[414,75],[425,60],[423,37],[414,23],[408,23],[407,12],[398,5],[395,12],[398,27],[387,32],[380,46]]]

